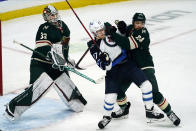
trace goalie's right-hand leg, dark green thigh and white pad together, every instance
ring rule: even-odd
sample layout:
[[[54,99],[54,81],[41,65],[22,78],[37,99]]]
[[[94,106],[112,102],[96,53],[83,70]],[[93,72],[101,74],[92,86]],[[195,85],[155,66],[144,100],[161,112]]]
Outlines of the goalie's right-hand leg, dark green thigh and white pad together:
[[[82,94],[79,92],[75,84],[69,78],[68,71],[59,71],[58,69],[52,68],[51,65],[45,66],[45,70],[47,71],[47,74],[53,80],[55,80],[53,87],[57,91],[61,100],[67,106],[69,106],[71,110],[76,112],[82,111],[87,101],[83,98]]]

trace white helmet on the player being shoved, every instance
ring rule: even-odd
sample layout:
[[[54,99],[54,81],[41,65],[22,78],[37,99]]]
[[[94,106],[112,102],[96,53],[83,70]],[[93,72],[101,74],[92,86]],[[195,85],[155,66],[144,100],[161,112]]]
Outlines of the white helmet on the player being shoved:
[[[89,29],[90,29],[91,33],[96,37],[97,31],[104,29],[104,22],[99,21],[99,20],[94,20],[94,21],[90,22]]]

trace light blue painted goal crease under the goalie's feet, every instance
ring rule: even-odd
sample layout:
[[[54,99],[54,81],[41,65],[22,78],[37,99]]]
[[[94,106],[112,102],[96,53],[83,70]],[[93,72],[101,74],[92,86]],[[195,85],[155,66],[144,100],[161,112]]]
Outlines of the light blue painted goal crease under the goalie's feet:
[[[0,131],[23,131],[45,127],[73,114],[60,100],[44,97],[28,109],[20,119],[10,122],[3,116],[4,105],[15,96],[10,94],[0,97]]]

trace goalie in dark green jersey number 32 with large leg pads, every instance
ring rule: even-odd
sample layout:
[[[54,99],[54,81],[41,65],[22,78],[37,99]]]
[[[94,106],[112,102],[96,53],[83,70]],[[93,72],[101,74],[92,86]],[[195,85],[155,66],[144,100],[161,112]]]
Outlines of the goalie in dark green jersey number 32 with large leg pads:
[[[64,65],[74,65],[68,57],[69,28],[59,20],[58,11],[53,6],[44,8],[43,18],[46,22],[37,31],[35,51],[31,57],[30,85],[6,104],[4,115],[9,120],[19,118],[51,88],[74,112],[83,111],[87,103],[64,69]]]

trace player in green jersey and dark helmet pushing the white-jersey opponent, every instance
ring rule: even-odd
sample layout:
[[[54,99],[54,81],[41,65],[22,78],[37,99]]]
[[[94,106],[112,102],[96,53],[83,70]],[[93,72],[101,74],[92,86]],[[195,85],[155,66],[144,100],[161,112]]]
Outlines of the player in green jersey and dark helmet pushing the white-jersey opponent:
[[[141,68],[152,84],[154,103],[168,116],[174,125],[178,126],[180,124],[180,119],[172,111],[171,105],[158,88],[153,58],[149,51],[150,36],[145,27],[145,21],[146,17],[143,13],[135,13],[131,25],[127,26],[124,21],[116,21],[116,24],[119,33],[123,36],[127,36],[130,40],[130,57],[135,60],[137,66]],[[123,85],[124,91],[128,89],[131,83],[132,82],[125,83]],[[126,109],[126,94],[124,92],[118,94],[117,102],[122,107],[122,110]],[[115,113],[114,116],[118,117]]]

